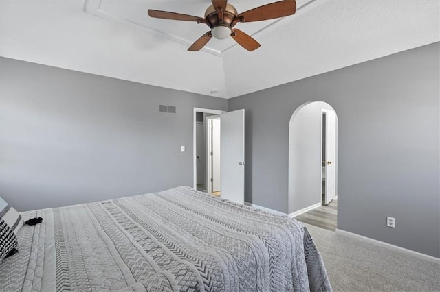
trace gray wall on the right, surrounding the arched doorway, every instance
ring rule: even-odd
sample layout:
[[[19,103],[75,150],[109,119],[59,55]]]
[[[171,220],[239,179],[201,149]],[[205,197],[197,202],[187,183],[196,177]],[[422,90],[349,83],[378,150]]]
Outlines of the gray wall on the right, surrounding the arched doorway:
[[[439,50],[437,42],[230,99],[229,110],[246,110],[245,201],[287,212],[289,119],[325,101],[339,121],[338,228],[440,257]]]

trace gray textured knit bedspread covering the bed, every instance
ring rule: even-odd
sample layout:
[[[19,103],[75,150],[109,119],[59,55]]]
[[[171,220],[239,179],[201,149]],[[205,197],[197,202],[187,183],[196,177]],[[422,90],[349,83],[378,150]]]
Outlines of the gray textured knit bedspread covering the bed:
[[[1,291],[331,291],[301,223],[188,187],[21,215]]]

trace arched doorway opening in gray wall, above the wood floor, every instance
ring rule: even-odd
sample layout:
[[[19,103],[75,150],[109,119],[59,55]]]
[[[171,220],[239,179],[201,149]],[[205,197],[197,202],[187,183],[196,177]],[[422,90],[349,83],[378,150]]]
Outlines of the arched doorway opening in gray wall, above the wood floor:
[[[337,149],[338,117],[333,107],[323,101],[298,107],[289,122],[290,215],[296,217],[337,199]],[[336,228],[336,214],[334,224]]]

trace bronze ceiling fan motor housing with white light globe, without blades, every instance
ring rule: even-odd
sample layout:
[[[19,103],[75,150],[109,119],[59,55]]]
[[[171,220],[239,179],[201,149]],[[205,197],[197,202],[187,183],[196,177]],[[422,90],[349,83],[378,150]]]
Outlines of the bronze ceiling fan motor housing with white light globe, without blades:
[[[205,19],[210,23],[212,29],[212,36],[215,38],[227,38],[231,34],[231,24],[234,18],[239,14],[234,6],[226,5],[225,11],[223,11],[223,19],[219,16],[221,12],[217,12],[213,5],[210,5],[205,12]]]

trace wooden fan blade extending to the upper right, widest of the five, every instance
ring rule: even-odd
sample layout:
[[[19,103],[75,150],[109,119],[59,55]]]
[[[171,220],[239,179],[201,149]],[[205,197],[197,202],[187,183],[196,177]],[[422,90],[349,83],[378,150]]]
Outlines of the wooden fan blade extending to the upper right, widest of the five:
[[[295,0],[283,0],[275,3],[266,4],[236,16],[241,22],[266,21],[267,19],[278,19],[292,15],[296,12]]]

